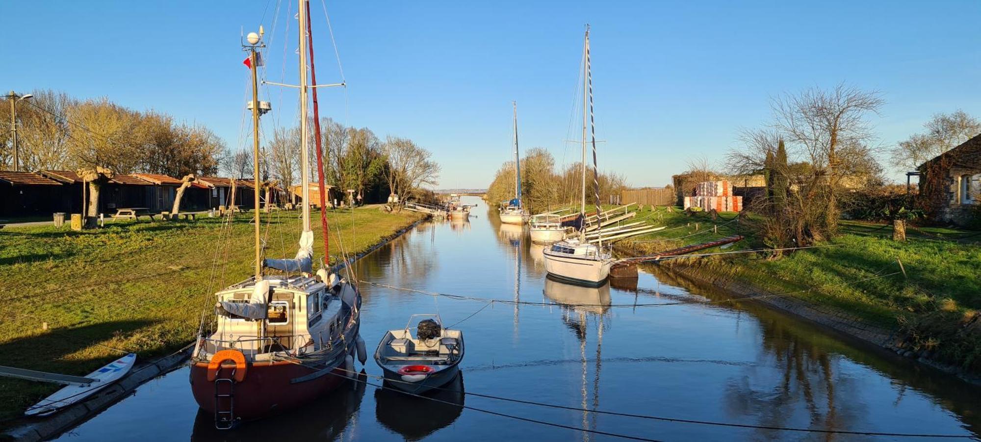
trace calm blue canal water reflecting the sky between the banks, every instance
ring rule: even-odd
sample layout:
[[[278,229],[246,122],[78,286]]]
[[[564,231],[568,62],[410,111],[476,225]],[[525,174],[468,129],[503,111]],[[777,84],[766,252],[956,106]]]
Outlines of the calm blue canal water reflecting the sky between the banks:
[[[670,274],[599,289],[545,278],[527,228],[479,203],[469,222],[421,224],[361,259],[361,335],[373,353],[412,313],[439,313],[466,340],[462,375],[434,400],[349,381],[303,410],[214,429],[186,367],[155,379],[64,440],[894,440],[888,436],[705,425],[581,409],[818,430],[981,434],[981,391],[905,359],[870,352],[799,320]],[[712,300],[718,303],[685,304]],[[659,306],[658,306],[659,305]],[[479,312],[478,312],[479,310]],[[476,312],[476,314],[475,314]],[[458,322],[458,323],[457,323]],[[361,365],[355,362],[358,369]],[[360,378],[380,382],[369,359]],[[479,393],[569,409],[504,402]],[[466,406],[464,409],[461,406]],[[478,410],[479,409],[479,410]],[[495,414],[511,414],[571,428]]]

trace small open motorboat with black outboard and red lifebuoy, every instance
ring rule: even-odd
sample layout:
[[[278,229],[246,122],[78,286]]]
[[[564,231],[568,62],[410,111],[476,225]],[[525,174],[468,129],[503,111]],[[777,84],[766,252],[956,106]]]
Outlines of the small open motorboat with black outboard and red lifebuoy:
[[[412,337],[411,325],[420,320]],[[388,330],[375,351],[388,386],[420,394],[456,377],[463,359],[463,332],[442,327],[438,314],[413,314],[401,330]]]

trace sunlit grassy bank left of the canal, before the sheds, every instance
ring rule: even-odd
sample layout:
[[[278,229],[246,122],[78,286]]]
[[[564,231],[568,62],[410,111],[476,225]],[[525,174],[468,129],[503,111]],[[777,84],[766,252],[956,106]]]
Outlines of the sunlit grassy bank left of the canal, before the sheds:
[[[378,206],[335,212],[331,253],[368,249],[418,219]],[[319,222],[319,217],[315,219]],[[241,214],[186,222],[119,222],[72,232],[54,227],[0,230],[0,355],[4,365],[85,374],[120,349],[140,359],[167,354],[193,339],[213,293],[249,276],[253,226]],[[298,212],[263,221],[266,255],[292,257]],[[318,224],[319,226],[319,224]],[[323,242],[315,228],[315,256]],[[43,329],[47,323],[48,330]],[[58,387],[0,377],[0,421]],[[2,424],[0,424],[2,426]]]

